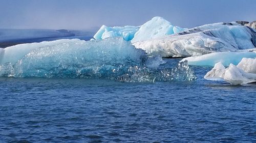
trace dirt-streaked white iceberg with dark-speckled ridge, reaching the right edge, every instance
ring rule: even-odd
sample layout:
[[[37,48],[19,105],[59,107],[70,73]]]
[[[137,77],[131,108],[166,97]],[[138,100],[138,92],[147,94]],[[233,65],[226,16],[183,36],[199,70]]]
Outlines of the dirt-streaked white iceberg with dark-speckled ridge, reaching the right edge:
[[[161,38],[138,41],[133,45],[144,49],[148,55],[184,58],[212,52],[255,48],[256,32],[253,28],[236,22],[222,22],[202,25]]]

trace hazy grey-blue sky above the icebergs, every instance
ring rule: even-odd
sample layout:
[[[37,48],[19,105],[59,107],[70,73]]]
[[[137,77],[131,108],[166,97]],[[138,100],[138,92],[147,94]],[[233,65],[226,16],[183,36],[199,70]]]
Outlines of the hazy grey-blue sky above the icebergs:
[[[94,30],[161,16],[191,28],[256,20],[256,0],[0,0],[0,28]]]

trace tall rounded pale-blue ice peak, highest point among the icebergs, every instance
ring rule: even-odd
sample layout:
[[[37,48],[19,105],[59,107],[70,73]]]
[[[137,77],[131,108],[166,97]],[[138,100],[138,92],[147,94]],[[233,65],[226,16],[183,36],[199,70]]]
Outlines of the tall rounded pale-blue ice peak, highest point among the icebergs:
[[[135,33],[132,43],[137,41],[145,41],[155,38],[160,38],[166,35],[171,35],[184,31],[185,29],[174,26],[169,21],[162,17],[153,17],[140,26],[139,31]]]

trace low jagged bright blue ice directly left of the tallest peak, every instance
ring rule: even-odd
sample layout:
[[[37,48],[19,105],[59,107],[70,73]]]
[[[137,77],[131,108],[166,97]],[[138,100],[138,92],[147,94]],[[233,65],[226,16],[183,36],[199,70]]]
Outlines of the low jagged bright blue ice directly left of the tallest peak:
[[[102,40],[109,37],[123,37],[125,41],[130,41],[134,38],[134,35],[138,30],[138,26],[108,27],[106,25],[102,25],[93,38],[96,40]]]

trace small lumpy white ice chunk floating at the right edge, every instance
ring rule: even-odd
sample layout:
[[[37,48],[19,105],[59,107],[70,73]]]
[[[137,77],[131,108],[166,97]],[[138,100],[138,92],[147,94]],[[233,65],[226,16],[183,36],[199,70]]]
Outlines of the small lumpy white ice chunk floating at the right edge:
[[[228,68],[225,68],[219,62],[206,73],[204,78],[207,80],[223,80],[233,85],[256,82],[255,63],[255,59],[244,58],[238,66],[230,64]]]

